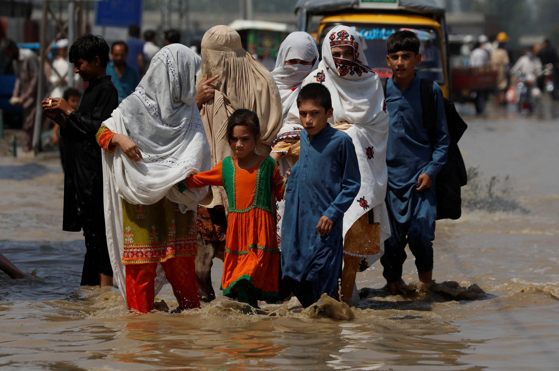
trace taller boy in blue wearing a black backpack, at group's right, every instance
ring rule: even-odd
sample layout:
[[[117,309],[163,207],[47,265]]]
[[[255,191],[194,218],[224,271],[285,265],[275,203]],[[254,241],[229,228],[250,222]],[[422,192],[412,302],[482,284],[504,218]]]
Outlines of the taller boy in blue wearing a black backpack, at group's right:
[[[423,124],[421,79],[415,75],[415,66],[421,62],[419,38],[412,31],[399,31],[390,35],[386,45],[386,60],[394,73],[386,84],[390,114],[386,206],[392,219],[392,236],[385,242],[381,263],[387,288],[395,293],[406,260],[406,244],[414,254],[419,280],[433,281],[435,180],[447,161],[450,139],[443,94],[437,83],[433,83],[437,111],[433,144]]]

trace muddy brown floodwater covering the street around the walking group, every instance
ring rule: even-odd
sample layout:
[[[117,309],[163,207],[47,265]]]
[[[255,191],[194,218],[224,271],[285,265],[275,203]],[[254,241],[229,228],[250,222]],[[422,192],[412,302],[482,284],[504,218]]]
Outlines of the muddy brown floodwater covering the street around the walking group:
[[[79,233],[61,232],[56,158],[0,158],[0,367],[53,370],[555,370],[559,368],[559,121],[467,118],[471,184],[458,221],[437,223],[434,278],[413,258],[405,295],[358,273],[355,319],[314,319],[295,298],[245,315],[218,295],[182,314],[130,315],[116,288],[79,287]],[[222,264],[215,261],[219,288]],[[158,298],[176,306],[170,286]]]

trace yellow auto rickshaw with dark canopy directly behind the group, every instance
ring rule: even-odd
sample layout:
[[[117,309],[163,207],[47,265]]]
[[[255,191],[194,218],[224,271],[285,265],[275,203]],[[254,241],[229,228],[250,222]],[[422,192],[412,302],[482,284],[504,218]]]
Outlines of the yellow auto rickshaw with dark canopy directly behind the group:
[[[353,27],[365,44],[369,67],[381,78],[392,76],[386,64],[387,38],[400,30],[414,31],[421,41],[418,76],[437,81],[450,98],[445,10],[435,0],[299,0],[295,12],[299,30],[316,35],[319,45],[331,28]]]

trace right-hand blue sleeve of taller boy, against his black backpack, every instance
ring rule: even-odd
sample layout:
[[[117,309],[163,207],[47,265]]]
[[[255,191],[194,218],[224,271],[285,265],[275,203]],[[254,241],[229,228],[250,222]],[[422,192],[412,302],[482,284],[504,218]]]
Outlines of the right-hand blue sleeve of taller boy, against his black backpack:
[[[437,83],[433,84],[435,107],[437,107],[437,120],[435,121],[434,151],[431,161],[425,168],[425,174],[434,181],[440,169],[447,162],[450,137],[448,136],[447,116],[444,113],[443,92]]]

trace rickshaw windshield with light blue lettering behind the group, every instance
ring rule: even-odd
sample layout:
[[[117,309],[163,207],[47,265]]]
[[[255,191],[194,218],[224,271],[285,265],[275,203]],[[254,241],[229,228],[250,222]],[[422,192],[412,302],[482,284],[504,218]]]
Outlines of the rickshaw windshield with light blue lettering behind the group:
[[[328,32],[335,26],[341,24],[342,23],[327,23],[320,35],[320,45]],[[374,23],[344,23],[344,25],[352,27],[359,33],[362,42],[365,44],[362,46],[361,52],[364,52],[367,56],[369,67],[375,70],[381,78],[392,76],[392,70],[386,64],[386,40],[392,33],[397,31],[409,30],[415,32],[421,42],[419,47],[421,64],[415,68],[418,76],[433,79],[437,81],[439,85],[445,83],[443,59],[440,51],[440,37],[435,28]]]

